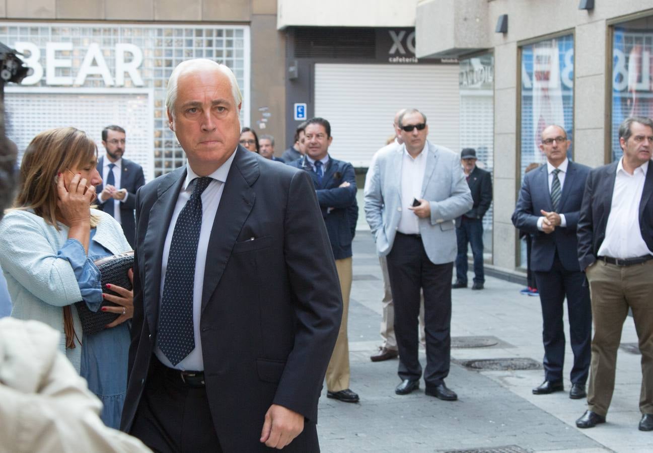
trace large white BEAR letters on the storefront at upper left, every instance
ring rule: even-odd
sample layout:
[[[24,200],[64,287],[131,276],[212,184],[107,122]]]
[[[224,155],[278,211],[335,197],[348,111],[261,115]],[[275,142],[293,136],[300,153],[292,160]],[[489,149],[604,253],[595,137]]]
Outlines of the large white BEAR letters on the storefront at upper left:
[[[106,86],[124,86],[125,73],[135,86],[143,86],[143,79],[140,76],[140,67],[143,62],[143,52],[134,44],[119,43],[114,50],[116,55],[116,74],[112,76],[109,70],[102,49],[95,42],[89,44],[84,55],[84,61],[79,67],[77,75],[61,76],[57,75],[57,68],[68,68],[72,71],[72,42],[48,42],[45,47],[45,68],[41,63],[41,51],[36,44],[32,42],[16,42],[14,48],[24,54],[22,60],[25,65],[34,70],[31,76],[25,77],[21,85],[35,85],[42,80],[45,73],[46,85],[63,85],[70,86],[84,85],[86,77],[89,75],[102,76]],[[61,52],[67,52],[63,56]]]

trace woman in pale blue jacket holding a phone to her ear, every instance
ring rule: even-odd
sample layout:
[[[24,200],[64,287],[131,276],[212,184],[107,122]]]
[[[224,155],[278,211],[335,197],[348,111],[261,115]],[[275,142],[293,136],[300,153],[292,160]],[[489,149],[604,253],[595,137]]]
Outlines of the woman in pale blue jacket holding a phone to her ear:
[[[59,349],[86,378],[89,390],[103,401],[101,418],[118,428],[127,387],[129,323],[133,293],[103,294],[94,260],[131,250],[119,223],[91,209],[97,146],[72,127],[38,134],[20,167],[14,207],[0,222],[0,266],[12,298],[12,317],[45,322],[61,332]],[[133,273],[130,271],[130,278]],[[82,336],[75,302],[119,317],[98,334]]]

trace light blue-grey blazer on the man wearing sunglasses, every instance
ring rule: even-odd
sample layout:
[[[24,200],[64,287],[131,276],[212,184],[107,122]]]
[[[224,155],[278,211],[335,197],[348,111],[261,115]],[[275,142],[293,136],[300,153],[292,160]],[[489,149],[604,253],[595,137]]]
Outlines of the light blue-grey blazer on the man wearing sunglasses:
[[[379,255],[392,250],[402,215],[402,163],[406,146],[381,148],[372,158],[365,181],[365,218]],[[451,149],[426,142],[426,170],[420,198],[431,206],[430,218],[419,219],[419,232],[428,259],[434,264],[456,258],[455,219],[473,206],[470,187]]]

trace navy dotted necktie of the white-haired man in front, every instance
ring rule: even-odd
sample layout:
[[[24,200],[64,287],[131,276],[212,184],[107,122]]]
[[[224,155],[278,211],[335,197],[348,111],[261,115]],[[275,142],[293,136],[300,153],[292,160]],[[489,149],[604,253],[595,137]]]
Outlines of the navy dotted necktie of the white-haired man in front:
[[[202,192],[212,178],[196,178],[195,189],[177,217],[168,252],[159,313],[159,349],[176,365],[195,349],[193,287],[202,226]]]

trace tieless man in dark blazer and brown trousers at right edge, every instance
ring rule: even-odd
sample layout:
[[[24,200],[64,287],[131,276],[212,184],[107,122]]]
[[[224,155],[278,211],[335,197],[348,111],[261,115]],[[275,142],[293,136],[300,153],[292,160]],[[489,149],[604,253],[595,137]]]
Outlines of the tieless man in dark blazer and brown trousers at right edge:
[[[579,428],[605,422],[614,391],[616,351],[628,309],[642,353],[639,430],[653,431],[653,121],[619,127],[623,157],[590,172],[578,221],[578,256],[592,294],[594,339],[588,410]]]

